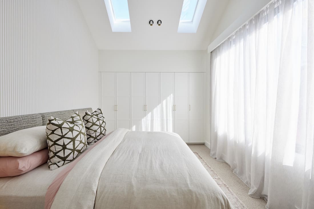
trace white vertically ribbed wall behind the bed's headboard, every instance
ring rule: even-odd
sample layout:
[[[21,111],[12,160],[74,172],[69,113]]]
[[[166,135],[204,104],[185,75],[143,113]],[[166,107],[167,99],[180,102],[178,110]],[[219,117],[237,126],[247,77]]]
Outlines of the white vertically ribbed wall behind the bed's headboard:
[[[94,109],[97,76],[76,0],[0,0],[0,117]]]

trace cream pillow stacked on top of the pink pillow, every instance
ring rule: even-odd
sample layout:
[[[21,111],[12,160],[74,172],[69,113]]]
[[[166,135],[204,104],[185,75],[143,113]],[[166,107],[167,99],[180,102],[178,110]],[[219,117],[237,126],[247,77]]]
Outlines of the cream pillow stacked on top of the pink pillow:
[[[26,128],[0,136],[1,157],[23,157],[46,147],[46,126]]]

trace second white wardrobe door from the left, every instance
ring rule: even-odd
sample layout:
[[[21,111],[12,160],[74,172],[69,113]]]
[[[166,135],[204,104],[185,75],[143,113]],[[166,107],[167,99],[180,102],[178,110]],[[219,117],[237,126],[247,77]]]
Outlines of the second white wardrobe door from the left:
[[[131,128],[131,73],[116,73],[116,128]]]

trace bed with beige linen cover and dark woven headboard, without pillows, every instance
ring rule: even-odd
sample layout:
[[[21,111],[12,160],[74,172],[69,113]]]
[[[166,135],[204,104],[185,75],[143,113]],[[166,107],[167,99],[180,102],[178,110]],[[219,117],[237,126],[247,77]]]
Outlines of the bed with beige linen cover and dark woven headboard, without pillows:
[[[48,115],[73,111],[40,113],[41,122],[36,114],[0,118],[0,127],[14,121],[0,134],[22,129],[15,127],[21,121],[42,125]],[[232,208],[176,133],[117,129],[81,155],[56,170],[44,164],[0,178],[0,208]]]

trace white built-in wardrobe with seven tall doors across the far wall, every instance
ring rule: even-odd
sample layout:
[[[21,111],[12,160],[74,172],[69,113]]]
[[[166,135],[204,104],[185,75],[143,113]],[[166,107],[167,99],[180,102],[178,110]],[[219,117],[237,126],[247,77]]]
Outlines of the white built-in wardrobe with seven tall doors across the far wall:
[[[202,143],[203,72],[101,72],[100,106],[107,132],[176,132]]]

